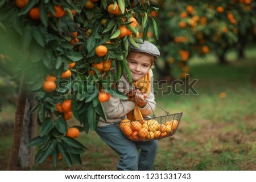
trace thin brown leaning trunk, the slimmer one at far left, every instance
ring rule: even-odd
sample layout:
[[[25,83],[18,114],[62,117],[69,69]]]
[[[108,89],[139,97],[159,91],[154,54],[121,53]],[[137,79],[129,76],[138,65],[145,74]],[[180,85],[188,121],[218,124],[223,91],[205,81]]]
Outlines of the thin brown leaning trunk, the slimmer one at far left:
[[[22,138],[22,127],[23,127],[23,116],[24,116],[25,105],[26,105],[26,91],[24,86],[24,77],[22,74],[20,87],[19,87],[18,100],[16,104],[16,111],[15,111],[13,143],[11,146],[11,152],[10,152],[7,170],[16,170],[16,167],[18,165],[18,155],[19,155],[20,141]]]

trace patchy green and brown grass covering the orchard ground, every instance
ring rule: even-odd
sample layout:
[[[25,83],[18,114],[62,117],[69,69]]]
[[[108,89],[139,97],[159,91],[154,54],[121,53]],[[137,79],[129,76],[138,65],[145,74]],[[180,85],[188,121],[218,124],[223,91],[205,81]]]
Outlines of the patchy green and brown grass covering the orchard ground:
[[[245,60],[232,60],[229,65],[217,65],[213,57],[192,60],[189,82],[198,79],[193,86],[198,95],[163,96],[159,93],[167,86],[158,90],[158,105],[170,113],[183,112],[183,117],[173,137],[159,140],[155,170],[256,170],[256,55],[253,49],[247,49],[246,55]],[[232,59],[234,52],[228,57]],[[13,107],[3,108],[0,114],[0,136],[5,138],[0,141],[0,170],[4,170],[12,133],[11,127],[3,126],[13,121]],[[156,108],[155,114],[161,116],[164,111]],[[81,134],[79,141],[88,147],[81,155],[82,166],[67,167],[61,160],[54,168],[46,161],[30,170],[116,170],[118,155],[95,132]]]

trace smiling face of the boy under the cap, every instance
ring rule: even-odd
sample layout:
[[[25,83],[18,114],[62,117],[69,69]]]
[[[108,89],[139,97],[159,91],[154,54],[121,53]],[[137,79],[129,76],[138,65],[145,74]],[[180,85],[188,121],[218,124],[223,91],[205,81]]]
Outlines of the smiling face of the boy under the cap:
[[[127,61],[133,81],[146,76],[151,68],[151,56],[147,53],[130,52]]]

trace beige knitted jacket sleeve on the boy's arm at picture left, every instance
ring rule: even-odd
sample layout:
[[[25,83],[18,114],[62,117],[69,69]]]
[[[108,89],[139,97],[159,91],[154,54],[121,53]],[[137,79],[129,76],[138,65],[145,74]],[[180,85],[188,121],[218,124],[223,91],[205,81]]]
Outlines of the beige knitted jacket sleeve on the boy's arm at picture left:
[[[115,96],[111,96],[103,105],[108,119],[126,116],[135,107],[133,101],[122,100]]]

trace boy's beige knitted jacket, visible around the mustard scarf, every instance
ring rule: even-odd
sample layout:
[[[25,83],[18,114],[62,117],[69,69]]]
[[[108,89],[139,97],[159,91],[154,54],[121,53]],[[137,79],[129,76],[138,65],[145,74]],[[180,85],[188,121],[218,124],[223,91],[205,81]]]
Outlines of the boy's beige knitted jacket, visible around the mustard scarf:
[[[152,70],[150,71],[152,83],[153,73]],[[135,87],[133,86],[133,84],[129,83],[126,74],[123,74],[118,84],[118,90],[123,94],[127,95],[129,91],[132,91],[134,89]],[[152,103],[148,102],[143,108],[140,108],[142,116],[145,118],[152,113],[152,110],[155,110],[155,96],[153,94],[153,84],[151,84],[151,92],[148,95],[147,100],[151,101]],[[118,122],[124,118],[127,118],[127,113],[134,109],[135,103],[133,101],[119,99],[116,96],[111,96],[108,101],[105,101],[103,103],[103,106],[108,120],[105,121],[102,117],[100,117],[97,125],[98,127],[113,124],[114,122]]]

